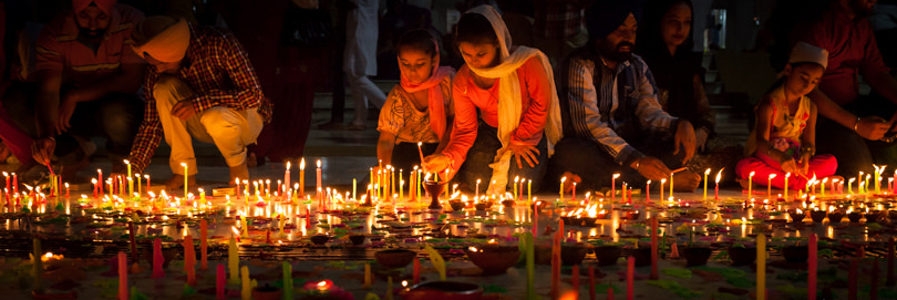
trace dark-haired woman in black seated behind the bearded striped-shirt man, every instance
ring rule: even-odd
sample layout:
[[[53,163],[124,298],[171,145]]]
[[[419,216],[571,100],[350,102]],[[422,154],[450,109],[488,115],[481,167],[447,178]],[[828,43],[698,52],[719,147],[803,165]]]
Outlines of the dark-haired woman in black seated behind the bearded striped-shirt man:
[[[733,141],[726,147],[715,136],[716,116],[710,107],[703,86],[702,54],[693,52],[692,3],[690,0],[652,1],[645,9],[639,25],[636,53],[651,69],[658,102],[670,115],[688,120],[694,126],[694,157],[685,163],[689,169],[702,173],[731,169],[742,158],[742,148]],[[731,174],[731,173],[730,173]]]

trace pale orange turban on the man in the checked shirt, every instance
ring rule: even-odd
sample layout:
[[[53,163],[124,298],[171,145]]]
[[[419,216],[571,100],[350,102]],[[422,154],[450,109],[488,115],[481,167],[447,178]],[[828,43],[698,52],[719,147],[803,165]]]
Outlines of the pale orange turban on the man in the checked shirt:
[[[137,55],[146,54],[161,62],[178,62],[190,45],[190,28],[187,20],[169,17],[150,17],[138,22],[131,32]]]

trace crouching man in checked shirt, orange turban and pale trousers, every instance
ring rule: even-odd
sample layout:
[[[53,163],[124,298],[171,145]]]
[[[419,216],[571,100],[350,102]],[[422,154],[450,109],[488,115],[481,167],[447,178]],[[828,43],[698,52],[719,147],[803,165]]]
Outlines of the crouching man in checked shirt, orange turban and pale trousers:
[[[174,173],[167,189],[182,187],[183,176],[188,176],[188,186],[196,185],[190,137],[218,147],[230,167],[230,182],[248,178],[246,145],[255,143],[269,122],[271,105],[243,45],[228,32],[168,17],[137,23],[132,38],[134,52],[150,63],[144,120],[130,155],[137,173],[150,164],[164,133]]]

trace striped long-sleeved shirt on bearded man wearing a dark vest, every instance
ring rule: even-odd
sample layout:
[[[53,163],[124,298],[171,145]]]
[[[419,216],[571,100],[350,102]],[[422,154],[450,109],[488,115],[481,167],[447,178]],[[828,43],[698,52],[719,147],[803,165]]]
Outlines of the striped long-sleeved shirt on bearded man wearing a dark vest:
[[[564,136],[595,141],[628,166],[645,155],[627,139],[641,139],[646,132],[672,133],[678,118],[658,104],[653,75],[638,55],[611,70],[594,51],[580,50],[561,68]]]

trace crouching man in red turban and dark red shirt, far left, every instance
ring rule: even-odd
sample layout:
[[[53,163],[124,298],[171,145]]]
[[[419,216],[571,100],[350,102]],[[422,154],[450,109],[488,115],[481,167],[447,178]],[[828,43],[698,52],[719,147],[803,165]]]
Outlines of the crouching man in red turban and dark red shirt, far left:
[[[81,144],[104,137],[112,172],[123,172],[143,116],[136,92],[145,63],[128,46],[131,28],[143,18],[115,0],[73,0],[72,11],[41,30],[34,101],[19,101],[34,112],[19,116],[24,120],[19,123],[33,130],[38,163],[85,166],[91,151]],[[76,167],[65,170],[63,179]]]

